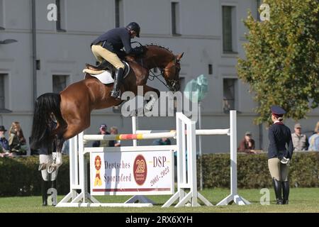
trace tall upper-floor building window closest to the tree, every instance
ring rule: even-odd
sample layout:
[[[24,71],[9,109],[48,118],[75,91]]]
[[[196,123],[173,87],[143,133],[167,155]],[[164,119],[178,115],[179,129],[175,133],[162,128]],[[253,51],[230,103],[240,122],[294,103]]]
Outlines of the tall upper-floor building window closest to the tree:
[[[235,6],[223,6],[223,52],[232,53],[236,46]]]

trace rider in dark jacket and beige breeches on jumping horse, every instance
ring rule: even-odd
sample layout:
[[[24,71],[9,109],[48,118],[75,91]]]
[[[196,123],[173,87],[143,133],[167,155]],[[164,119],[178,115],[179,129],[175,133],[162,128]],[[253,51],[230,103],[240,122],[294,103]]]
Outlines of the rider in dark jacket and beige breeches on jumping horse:
[[[141,48],[131,47],[130,39],[135,38],[135,36],[140,37],[140,26],[138,23],[131,22],[125,28],[111,29],[91,43],[94,57],[100,63],[102,63],[103,59],[110,62],[116,68],[113,91],[111,91],[111,96],[116,99],[121,99],[119,88],[125,69],[120,57],[124,57],[125,55],[140,55],[143,52]],[[125,48],[125,52],[121,50],[123,47]]]

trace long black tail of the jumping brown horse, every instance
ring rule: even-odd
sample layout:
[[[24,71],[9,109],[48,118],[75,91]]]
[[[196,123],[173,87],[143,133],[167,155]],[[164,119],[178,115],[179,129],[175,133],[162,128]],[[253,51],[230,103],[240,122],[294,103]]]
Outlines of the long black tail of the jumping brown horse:
[[[30,148],[36,150],[52,143],[51,114],[57,122],[65,123],[60,110],[61,96],[56,93],[45,93],[35,101],[33,126],[30,137]],[[62,121],[62,122],[61,122]]]

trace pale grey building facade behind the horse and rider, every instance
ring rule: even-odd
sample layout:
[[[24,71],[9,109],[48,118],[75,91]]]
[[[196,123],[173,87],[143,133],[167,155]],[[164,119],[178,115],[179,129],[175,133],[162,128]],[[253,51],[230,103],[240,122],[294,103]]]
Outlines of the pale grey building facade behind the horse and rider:
[[[57,6],[57,21],[48,19],[50,4]],[[184,52],[180,73],[184,85],[200,74],[208,78],[203,128],[227,128],[228,110],[236,109],[238,142],[245,131],[251,131],[256,147],[267,149],[267,129],[252,123],[256,103],[247,84],[237,79],[236,70],[237,57],[245,56],[242,19],[248,10],[257,17],[259,4],[256,0],[0,0],[0,125],[8,129],[11,122],[19,121],[28,140],[35,97],[60,92],[83,79],[84,64],[96,62],[90,50],[92,40],[136,21],[141,26],[140,43],[157,43],[175,54]],[[167,90],[157,81],[149,84]],[[315,110],[301,121],[303,131],[313,130],[318,114]],[[131,133],[130,118],[113,109],[94,111],[86,133],[97,133],[101,123]],[[286,123],[293,131],[294,122]],[[173,117],[139,121],[141,129],[172,126]],[[203,138],[203,153],[229,149],[228,137]]]

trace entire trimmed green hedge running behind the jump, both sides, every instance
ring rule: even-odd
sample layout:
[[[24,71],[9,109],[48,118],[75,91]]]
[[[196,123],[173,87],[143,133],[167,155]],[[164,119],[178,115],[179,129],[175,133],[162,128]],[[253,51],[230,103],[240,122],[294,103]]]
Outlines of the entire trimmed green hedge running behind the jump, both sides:
[[[0,158],[0,196],[40,195],[38,164],[38,156]],[[295,153],[289,167],[291,186],[319,187],[318,167],[319,153]],[[239,188],[272,187],[267,154],[238,154],[237,170]],[[199,171],[197,173],[199,175]],[[69,192],[68,156],[63,156],[57,184],[59,194]],[[203,187],[230,187],[229,154],[203,155]]]

